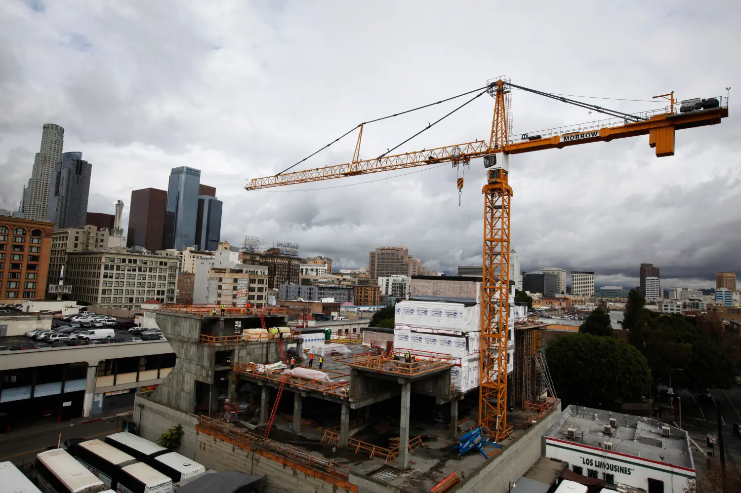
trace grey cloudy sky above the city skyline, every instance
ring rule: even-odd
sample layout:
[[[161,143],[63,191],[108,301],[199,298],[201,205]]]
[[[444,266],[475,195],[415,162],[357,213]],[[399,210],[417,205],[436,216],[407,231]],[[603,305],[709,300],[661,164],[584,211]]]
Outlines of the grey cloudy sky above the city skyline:
[[[128,205],[131,190],[166,189],[170,169],[186,165],[216,187],[222,238],[233,243],[295,241],[301,255],[342,267],[403,244],[428,268],[454,272],[481,263],[479,167],[465,170],[460,207],[447,165],[243,187],[360,121],[496,76],[626,112],[661,107],[651,96],[671,90],[684,99],[732,87],[731,117],[679,131],[671,158],[655,158],[648,136],[513,156],[512,237],[523,270],[594,270],[597,286],[635,286],[640,262],[661,267],[663,287],[741,273],[741,3],[520,5],[0,0],[0,208],[17,208],[41,126],[56,123],[64,150],[93,163],[90,212]],[[487,138],[493,103],[476,99],[400,150]],[[512,105],[514,135],[598,119],[522,91]],[[361,157],[455,106],[369,125]],[[354,145],[350,135],[302,167],[345,163]]]

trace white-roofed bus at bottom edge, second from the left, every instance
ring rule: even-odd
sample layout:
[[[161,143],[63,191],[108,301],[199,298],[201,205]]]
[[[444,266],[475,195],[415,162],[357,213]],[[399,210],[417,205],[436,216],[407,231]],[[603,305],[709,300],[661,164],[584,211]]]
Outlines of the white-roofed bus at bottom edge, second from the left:
[[[36,455],[36,480],[44,493],[100,493],[107,489],[64,449]]]

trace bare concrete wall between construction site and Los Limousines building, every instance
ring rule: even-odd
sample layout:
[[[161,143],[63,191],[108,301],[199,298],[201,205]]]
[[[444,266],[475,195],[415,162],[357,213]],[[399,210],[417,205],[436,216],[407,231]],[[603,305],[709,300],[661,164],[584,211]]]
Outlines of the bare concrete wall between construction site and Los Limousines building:
[[[516,481],[542,456],[542,435],[559,420],[561,401],[556,409],[528,429],[525,435],[510,443],[501,454],[488,460],[451,493],[507,493],[509,482]],[[379,490],[381,491],[381,490]]]

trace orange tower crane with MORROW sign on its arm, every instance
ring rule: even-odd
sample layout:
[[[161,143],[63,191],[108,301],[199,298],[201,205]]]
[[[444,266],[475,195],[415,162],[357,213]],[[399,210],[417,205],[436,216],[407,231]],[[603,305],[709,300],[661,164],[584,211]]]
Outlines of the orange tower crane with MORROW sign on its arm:
[[[574,104],[577,107],[590,110],[590,113],[594,111],[610,118],[593,121],[590,124],[579,124],[574,127],[560,127],[536,133],[536,135],[522,134],[519,138],[513,137],[510,135],[512,129],[511,91],[513,89],[527,91],[567,104]],[[391,155],[391,152],[396,150],[396,147],[405,144],[411,140],[410,138],[399,144],[399,146],[379,155],[377,158],[362,160],[360,159],[360,143],[363,127],[365,124],[371,123],[364,122],[356,127],[359,129],[358,139],[350,162],[297,172],[286,172],[290,170],[288,168],[288,170],[279,172],[277,175],[254,178],[250,180],[245,189],[261,190],[270,187],[282,187],[285,185],[342,178],[344,176],[404,170],[411,167],[427,166],[429,164],[451,163],[453,167],[458,167],[461,164],[470,164],[472,160],[481,158],[483,168],[487,172],[487,183],[482,189],[484,195],[484,234],[479,426],[482,426],[491,437],[494,437],[494,440],[499,441],[507,437],[511,432],[511,426],[508,426],[507,423],[506,413],[508,318],[510,304],[510,214],[513,195],[512,188],[508,183],[508,156],[539,150],[562,149],[563,147],[590,144],[592,142],[609,142],[617,138],[635,137],[638,135],[648,135],[648,144],[650,147],[655,148],[657,157],[671,156],[674,155],[675,130],[720,124],[722,118],[728,116],[728,97],[726,96],[725,103],[722,97],[718,97],[689,99],[682,101],[681,105],[677,105],[674,92],[671,92],[665,95],[654,96],[654,98],[665,98],[669,101],[668,106],[661,110],[628,114],[616,110],[608,110],[594,104],[576,101],[562,95],[554,95],[522,87],[512,84],[509,79],[504,77],[488,81],[485,87],[479,87],[479,89],[464,93],[463,95],[471,93],[477,94],[465,104],[470,103],[484,93],[488,93],[494,98],[494,118],[491,121],[491,133],[486,141],[476,140],[463,144],[453,144],[435,147],[429,150]],[[425,107],[432,106],[433,104],[428,104]],[[459,110],[465,104],[456,108],[456,110]],[[421,108],[424,107],[416,108],[415,110]],[[448,113],[448,115],[451,115],[456,110]],[[401,113],[396,115],[399,114]],[[391,116],[385,118],[391,118]],[[384,118],[378,118],[373,121],[381,119]],[[425,130],[440,120],[433,124],[428,124]],[[350,132],[345,135],[348,135]],[[416,135],[419,135],[419,133],[413,136]],[[324,148],[329,145],[331,143]],[[305,160],[299,161],[299,163],[293,166],[303,161]],[[461,178],[459,178],[458,187],[462,187]]]

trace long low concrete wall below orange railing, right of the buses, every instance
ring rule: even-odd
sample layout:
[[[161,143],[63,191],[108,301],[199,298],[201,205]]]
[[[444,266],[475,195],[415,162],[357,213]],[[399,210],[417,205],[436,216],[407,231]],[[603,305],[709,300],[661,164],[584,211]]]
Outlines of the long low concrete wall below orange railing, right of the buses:
[[[268,457],[241,449],[210,435],[199,433],[197,443],[196,456],[193,457],[193,460],[203,464],[206,469],[265,475],[271,491],[273,488],[284,489],[291,493],[338,493],[345,491],[310,474],[291,469],[282,463],[270,460]]]

